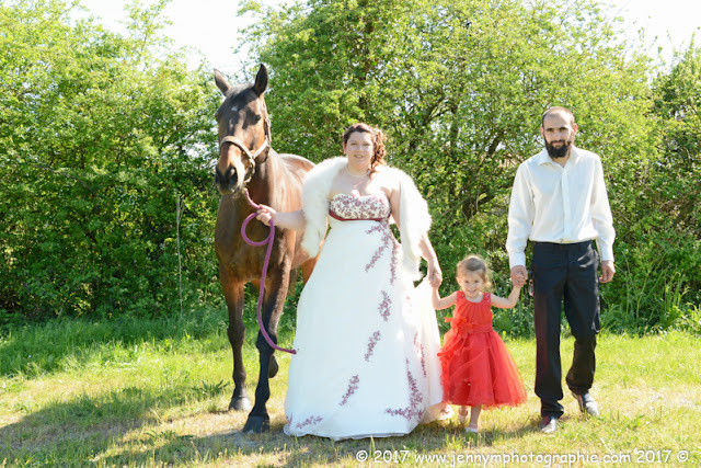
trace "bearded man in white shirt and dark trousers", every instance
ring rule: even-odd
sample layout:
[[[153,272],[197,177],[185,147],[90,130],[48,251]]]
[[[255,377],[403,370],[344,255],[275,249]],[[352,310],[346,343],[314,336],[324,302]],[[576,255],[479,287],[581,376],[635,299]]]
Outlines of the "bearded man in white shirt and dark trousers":
[[[540,430],[554,432],[564,409],[560,365],[562,306],[575,338],[567,387],[583,413],[598,415],[589,395],[594,381],[596,335],[599,332],[599,283],[613,277],[611,209],[601,160],[576,148],[577,125],[572,111],[551,107],[542,116],[540,134],[545,149],[521,163],[516,172],[508,210],[512,281],[525,285],[526,243],[531,261],[536,326],[536,395],[541,400]],[[601,258],[591,241],[596,239]]]

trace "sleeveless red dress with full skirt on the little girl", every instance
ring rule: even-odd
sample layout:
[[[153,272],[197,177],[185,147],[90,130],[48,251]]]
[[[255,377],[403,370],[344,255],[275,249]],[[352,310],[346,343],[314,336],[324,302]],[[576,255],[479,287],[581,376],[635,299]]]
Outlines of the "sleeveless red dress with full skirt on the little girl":
[[[450,330],[438,353],[444,400],[463,407],[515,407],[526,389],[506,345],[492,329],[492,295],[472,303],[458,292]]]

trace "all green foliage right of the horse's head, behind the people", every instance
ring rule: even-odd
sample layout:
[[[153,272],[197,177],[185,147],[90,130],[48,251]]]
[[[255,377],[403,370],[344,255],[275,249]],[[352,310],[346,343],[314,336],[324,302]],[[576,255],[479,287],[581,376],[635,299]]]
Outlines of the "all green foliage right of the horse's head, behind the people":
[[[618,231],[605,324],[666,329],[693,310],[683,304],[699,304],[693,47],[651,85],[651,59],[618,41],[621,24],[596,1],[250,1],[246,12],[260,21],[242,47],[251,69],[271,68],[278,146],[321,160],[338,151],[348,123],[382,127],[390,162],[429,201],[446,278],[469,252],[506,275],[514,172],[542,147],[542,111],[564,105],[577,117],[577,145],[602,157]],[[446,281],[441,293],[455,287]],[[685,298],[681,312],[670,296]],[[529,307],[521,300],[495,327],[530,333]]]

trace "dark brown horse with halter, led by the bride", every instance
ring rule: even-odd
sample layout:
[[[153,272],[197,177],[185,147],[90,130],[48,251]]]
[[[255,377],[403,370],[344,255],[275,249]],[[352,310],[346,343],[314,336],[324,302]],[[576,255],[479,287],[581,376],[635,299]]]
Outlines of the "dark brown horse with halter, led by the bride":
[[[243,432],[262,433],[269,430],[269,415],[265,404],[271,396],[268,378],[278,370],[274,349],[258,331],[255,346],[260,355],[260,375],[255,389],[255,404],[245,390],[246,373],[243,366],[242,344],[244,285],[252,283],[264,288],[262,304],[263,326],[277,343],[277,324],[283,313],[290,283],[295,283],[301,266],[304,281],[311,274],[315,259],[310,259],[300,247],[301,233],[276,229],[265,284],[261,284],[265,250],[250,247],[241,236],[241,225],[254,212],[248,204],[244,190],[258,204],[279,212],[301,208],[301,187],[306,173],[314,164],[295,155],[273,150],[271,121],[263,93],[268,75],[261,65],[255,82],[231,85],[215,70],[215,82],[225,95],[215,114],[219,128],[219,160],[215,169],[215,184],[220,193],[215,228],[215,252],[219,262],[219,283],[229,311],[228,336],[233,353],[233,393],[229,410],[248,411]],[[246,235],[253,240],[264,239],[268,227],[254,220]]]

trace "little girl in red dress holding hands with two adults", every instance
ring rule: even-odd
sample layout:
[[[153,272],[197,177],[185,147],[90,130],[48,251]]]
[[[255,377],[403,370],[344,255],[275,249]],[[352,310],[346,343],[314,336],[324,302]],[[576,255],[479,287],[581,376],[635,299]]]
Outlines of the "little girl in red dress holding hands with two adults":
[[[516,364],[499,335],[492,329],[491,306],[510,309],[518,301],[520,286],[514,286],[508,298],[485,293],[491,287],[486,263],[479,255],[469,255],[457,269],[460,289],[448,297],[439,297],[433,289],[435,309],[457,304],[450,330],[446,333],[441,364],[444,400],[459,404],[462,424],[471,407],[466,432],[478,432],[482,407],[518,406],[526,402],[526,389]]]

